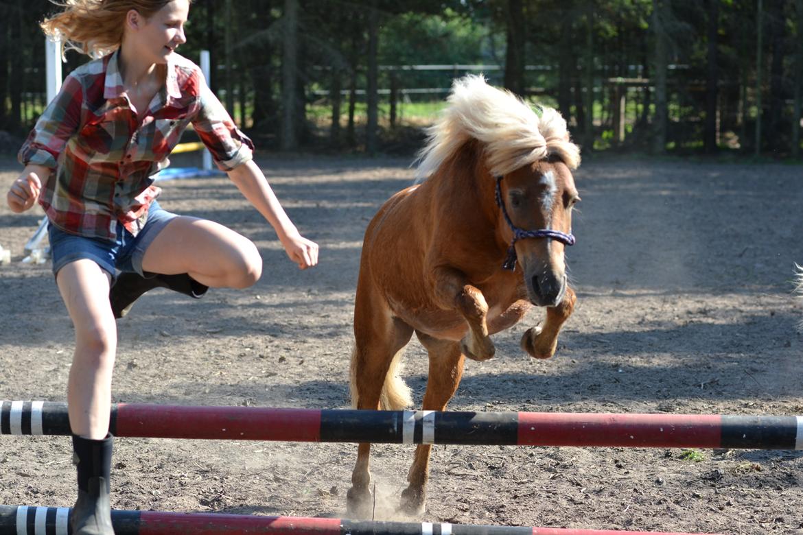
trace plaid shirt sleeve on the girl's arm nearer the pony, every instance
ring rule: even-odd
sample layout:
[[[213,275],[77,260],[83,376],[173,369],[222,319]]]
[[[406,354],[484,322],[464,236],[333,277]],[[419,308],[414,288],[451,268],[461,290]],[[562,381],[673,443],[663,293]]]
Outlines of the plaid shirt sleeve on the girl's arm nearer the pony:
[[[212,153],[218,168],[229,172],[253,159],[254,143],[237,128],[203,77],[200,86],[200,107],[193,128]]]

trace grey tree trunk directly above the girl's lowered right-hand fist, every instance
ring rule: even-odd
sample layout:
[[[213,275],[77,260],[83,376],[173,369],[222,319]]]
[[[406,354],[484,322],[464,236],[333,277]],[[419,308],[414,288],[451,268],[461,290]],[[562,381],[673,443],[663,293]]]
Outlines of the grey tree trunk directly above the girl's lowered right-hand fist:
[[[282,54],[282,150],[298,148],[296,132],[296,85],[298,73],[298,0],[284,0]]]

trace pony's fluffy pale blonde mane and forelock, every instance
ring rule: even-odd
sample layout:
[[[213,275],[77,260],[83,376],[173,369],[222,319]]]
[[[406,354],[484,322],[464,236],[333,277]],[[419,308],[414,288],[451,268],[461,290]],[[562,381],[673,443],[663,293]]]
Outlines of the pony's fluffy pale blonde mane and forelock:
[[[536,114],[510,91],[491,87],[482,75],[454,80],[449,106],[427,128],[416,178],[424,180],[468,140],[485,145],[486,164],[498,176],[555,155],[569,168],[580,165],[580,148],[569,141],[566,121],[552,107]]]

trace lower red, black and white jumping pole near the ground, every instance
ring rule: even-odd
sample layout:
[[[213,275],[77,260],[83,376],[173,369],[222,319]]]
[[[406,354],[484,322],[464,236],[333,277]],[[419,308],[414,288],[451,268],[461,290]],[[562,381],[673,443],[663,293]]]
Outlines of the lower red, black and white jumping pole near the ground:
[[[71,509],[0,505],[0,535],[68,535]],[[222,513],[112,510],[116,535],[691,535],[606,529],[532,528],[340,518],[256,517]]]

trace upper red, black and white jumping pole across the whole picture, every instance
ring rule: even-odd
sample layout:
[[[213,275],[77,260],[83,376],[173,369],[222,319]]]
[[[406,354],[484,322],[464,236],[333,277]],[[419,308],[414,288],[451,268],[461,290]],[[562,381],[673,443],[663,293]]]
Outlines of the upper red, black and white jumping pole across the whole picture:
[[[112,405],[116,436],[619,448],[803,449],[803,416]],[[0,434],[70,434],[67,404],[0,402]]]

